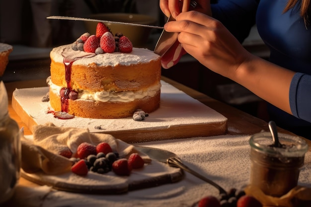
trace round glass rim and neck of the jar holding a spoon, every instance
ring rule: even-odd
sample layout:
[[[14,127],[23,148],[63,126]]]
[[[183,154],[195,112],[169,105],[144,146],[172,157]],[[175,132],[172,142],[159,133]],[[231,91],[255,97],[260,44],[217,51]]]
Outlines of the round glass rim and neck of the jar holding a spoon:
[[[282,133],[278,133],[278,137],[283,147],[273,146],[270,132],[254,134],[249,144],[252,149],[272,156],[302,157],[308,151],[308,143],[303,138]]]

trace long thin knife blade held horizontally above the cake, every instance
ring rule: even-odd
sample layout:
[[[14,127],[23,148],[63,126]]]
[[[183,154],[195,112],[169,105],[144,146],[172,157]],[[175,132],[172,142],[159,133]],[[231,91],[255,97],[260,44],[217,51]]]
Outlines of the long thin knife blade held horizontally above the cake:
[[[108,21],[102,19],[90,19],[90,18],[82,18],[82,17],[73,17],[73,16],[48,16],[47,19],[64,19],[64,20],[76,20],[76,21],[96,21],[96,22],[104,22],[104,23],[112,23],[112,24],[125,24],[131,26],[139,26],[139,27],[149,27],[155,29],[164,29],[160,26],[148,25],[148,24],[137,24],[137,23],[129,23],[129,22],[119,22],[119,21]]]

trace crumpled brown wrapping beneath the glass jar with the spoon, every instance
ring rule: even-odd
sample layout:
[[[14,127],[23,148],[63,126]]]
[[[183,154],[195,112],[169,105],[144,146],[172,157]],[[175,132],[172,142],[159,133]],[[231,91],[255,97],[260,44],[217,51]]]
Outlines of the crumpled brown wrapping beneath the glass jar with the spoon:
[[[311,206],[311,188],[297,186],[280,198],[267,196],[259,188],[252,185],[248,185],[244,190],[247,195],[255,197],[261,204],[268,207]]]

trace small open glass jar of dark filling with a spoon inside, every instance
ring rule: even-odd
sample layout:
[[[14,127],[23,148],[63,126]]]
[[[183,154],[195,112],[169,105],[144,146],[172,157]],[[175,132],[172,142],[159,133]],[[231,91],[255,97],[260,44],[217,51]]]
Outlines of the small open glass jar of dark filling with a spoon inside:
[[[281,197],[297,186],[308,143],[297,136],[278,133],[282,147],[274,147],[271,133],[250,140],[250,184],[269,196]]]

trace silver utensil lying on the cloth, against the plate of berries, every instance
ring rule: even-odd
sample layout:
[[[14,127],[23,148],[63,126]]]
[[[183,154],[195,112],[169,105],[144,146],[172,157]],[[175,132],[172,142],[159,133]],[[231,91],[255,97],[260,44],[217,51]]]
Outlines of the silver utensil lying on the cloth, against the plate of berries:
[[[211,184],[215,188],[219,190],[220,194],[228,195],[227,191],[223,189],[220,185],[215,183],[214,181],[208,179],[207,177],[197,173],[196,171],[190,169],[188,166],[183,164],[181,160],[177,157],[176,154],[173,152],[164,150],[164,149],[158,149],[153,147],[146,147],[146,146],[135,146],[135,148],[138,151],[141,151],[145,154],[147,154],[151,159],[167,163],[171,167],[179,167],[180,169],[183,169],[192,175],[196,176],[197,178],[200,178],[201,180]]]

